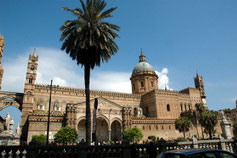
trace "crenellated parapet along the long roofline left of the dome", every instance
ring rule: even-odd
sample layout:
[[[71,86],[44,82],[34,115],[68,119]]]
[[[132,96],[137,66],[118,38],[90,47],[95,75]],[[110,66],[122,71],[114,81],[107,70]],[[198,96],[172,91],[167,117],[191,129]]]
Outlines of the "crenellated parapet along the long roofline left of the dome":
[[[50,85],[45,84],[36,84],[35,89],[37,90],[49,90]],[[53,85],[53,91],[54,92],[69,92],[70,95],[78,95],[78,94],[85,94],[85,89],[82,88],[70,88],[70,87],[61,87],[59,85]],[[100,90],[90,90],[91,95],[95,96],[111,96],[111,97],[118,97],[118,98],[134,98],[134,99],[140,99],[140,94],[131,94],[131,93],[121,93],[121,92],[110,92],[110,91],[100,91]]]

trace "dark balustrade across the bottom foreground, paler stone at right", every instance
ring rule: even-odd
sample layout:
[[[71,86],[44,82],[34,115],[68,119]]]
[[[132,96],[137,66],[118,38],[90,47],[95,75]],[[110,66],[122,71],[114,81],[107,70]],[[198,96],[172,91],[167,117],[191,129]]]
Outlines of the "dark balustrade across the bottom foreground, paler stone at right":
[[[237,153],[237,142],[220,138],[218,140],[201,140],[195,138],[188,142],[169,143],[160,141],[149,144],[119,144],[119,145],[96,145],[84,144],[71,146],[0,146],[0,157],[80,157],[80,158],[139,158],[156,157],[159,153],[168,150],[188,149],[223,149]]]

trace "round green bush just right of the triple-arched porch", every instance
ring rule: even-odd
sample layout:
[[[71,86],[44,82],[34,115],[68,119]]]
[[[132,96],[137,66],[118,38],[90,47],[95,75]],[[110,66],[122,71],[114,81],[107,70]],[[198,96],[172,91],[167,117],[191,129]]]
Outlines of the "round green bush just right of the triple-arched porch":
[[[123,132],[123,139],[129,142],[140,141],[143,137],[142,131],[137,127],[129,128]]]

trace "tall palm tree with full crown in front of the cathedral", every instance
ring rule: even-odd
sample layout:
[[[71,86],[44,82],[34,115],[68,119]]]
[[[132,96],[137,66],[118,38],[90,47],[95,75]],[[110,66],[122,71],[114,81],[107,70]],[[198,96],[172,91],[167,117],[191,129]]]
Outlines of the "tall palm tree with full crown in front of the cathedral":
[[[118,51],[114,42],[119,37],[117,25],[105,22],[104,19],[112,17],[116,8],[105,10],[104,0],[80,0],[81,8],[68,9],[75,20],[68,20],[60,27],[62,31],[60,40],[63,41],[62,50],[76,60],[78,65],[84,66],[84,80],[86,93],[86,142],[91,142],[90,120],[90,70],[100,66],[101,61],[107,62]]]

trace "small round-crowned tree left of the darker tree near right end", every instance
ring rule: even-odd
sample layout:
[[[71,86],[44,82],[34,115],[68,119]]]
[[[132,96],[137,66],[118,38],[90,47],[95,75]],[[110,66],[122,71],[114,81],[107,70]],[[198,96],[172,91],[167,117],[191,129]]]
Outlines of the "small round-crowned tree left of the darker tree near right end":
[[[179,117],[175,120],[175,128],[179,130],[179,132],[183,132],[185,138],[185,132],[189,131],[191,127],[191,121],[187,117]]]

